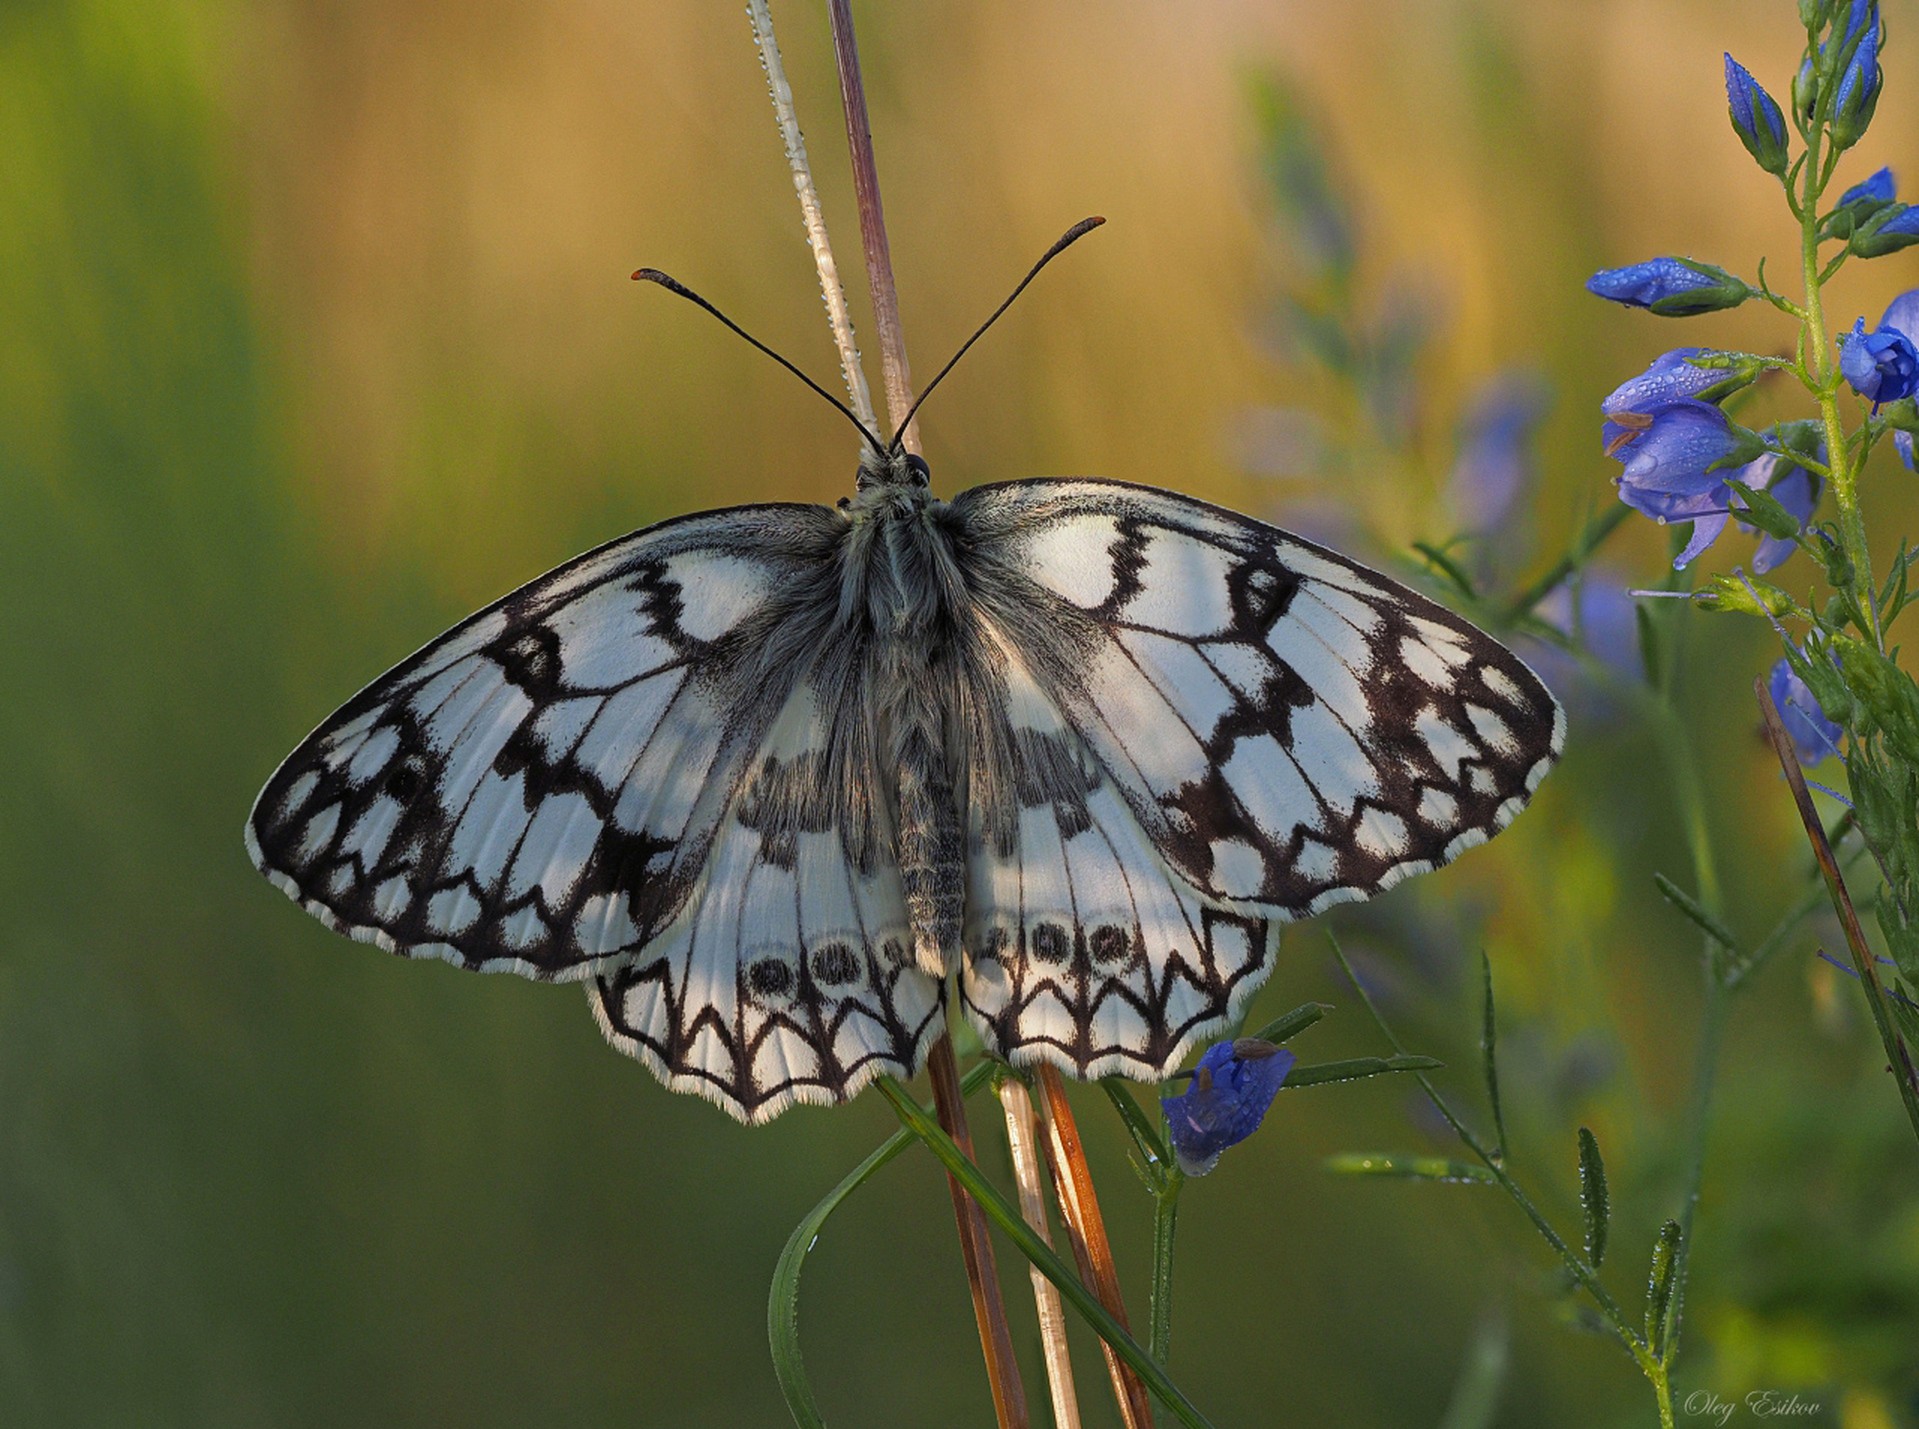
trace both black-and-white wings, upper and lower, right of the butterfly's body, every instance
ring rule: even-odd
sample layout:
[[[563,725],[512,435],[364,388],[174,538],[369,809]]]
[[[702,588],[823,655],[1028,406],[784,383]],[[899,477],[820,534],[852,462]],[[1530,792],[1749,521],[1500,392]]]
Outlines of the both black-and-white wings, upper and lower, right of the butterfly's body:
[[[1280,923],[1485,842],[1564,742],[1497,641],[1245,516],[1048,480],[954,514],[1032,750],[984,804],[1017,832],[975,808],[969,848],[961,992],[1013,1059],[1163,1076],[1265,978]]]

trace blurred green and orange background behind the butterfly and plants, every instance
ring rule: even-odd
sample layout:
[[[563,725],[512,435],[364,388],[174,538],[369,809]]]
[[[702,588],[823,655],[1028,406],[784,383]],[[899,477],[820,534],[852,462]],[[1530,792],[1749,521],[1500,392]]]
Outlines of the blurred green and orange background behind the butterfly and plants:
[[[1067,223],[1111,219],[927,410],[944,491],[1096,472],[1274,520],[1330,495],[1403,543],[1443,529],[1466,395],[1524,364],[1556,395],[1514,556],[1537,570],[1610,499],[1604,391],[1677,341],[1785,341],[1765,313],[1681,332],[1579,290],[1660,251],[1790,255],[1719,94],[1721,48],[1783,92],[1785,0],[858,13],[921,374]],[[775,15],[850,269],[823,8]],[[1911,21],[1888,6],[1852,178],[1919,178]],[[1357,290],[1428,295],[1391,480],[1313,491],[1240,457],[1249,410],[1332,401],[1265,332],[1299,257],[1255,77],[1324,136]],[[885,1107],[743,1130],[614,1055],[578,990],[338,940],[240,848],[278,756],[470,608],[681,510],[850,489],[839,418],[628,282],[641,263],[831,378],[739,6],[0,4],[0,1423],[785,1421],[768,1274]],[[1854,265],[1833,311],[1913,282],[1919,257]],[[1890,549],[1911,478],[1869,485]],[[1664,549],[1635,526],[1608,560],[1652,583]],[[1810,867],[1756,738],[1771,656],[1716,625],[1683,662],[1750,938]],[[1675,1210],[1698,1007],[1696,934],[1656,869],[1689,882],[1650,738],[1575,712],[1510,834],[1338,919],[1474,1107],[1491,951],[1520,1176],[1575,1226],[1574,1128],[1600,1134],[1627,1302]],[[1913,1147],[1821,942],[1806,925],[1735,1011],[1681,1391],[1919,1423]],[[1316,930],[1288,948],[1255,1019],[1330,1001],[1303,1057],[1376,1051]],[[1100,1097],[1082,1118],[1140,1295],[1149,1206]],[[1372,1147],[1445,1141],[1405,1084],[1315,1089],[1188,1191],[1174,1371],[1219,1423],[1437,1425],[1474,1364],[1504,1364],[1497,1417],[1455,1429],[1652,1421],[1623,1356],[1562,1324],[1504,1199],[1320,1166]],[[988,1421],[929,1157],[829,1228],[804,1316],[835,1423]],[[1077,1347],[1088,1423],[1113,1423]]]

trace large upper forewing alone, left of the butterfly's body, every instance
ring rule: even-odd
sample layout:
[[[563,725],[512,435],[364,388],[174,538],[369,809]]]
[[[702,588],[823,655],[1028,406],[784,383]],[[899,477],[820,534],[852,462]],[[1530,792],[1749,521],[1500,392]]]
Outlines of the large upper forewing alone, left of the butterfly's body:
[[[294,750],[248,819],[253,861],[397,953],[574,978],[645,944],[831,616],[839,526],[691,516],[487,606]]]

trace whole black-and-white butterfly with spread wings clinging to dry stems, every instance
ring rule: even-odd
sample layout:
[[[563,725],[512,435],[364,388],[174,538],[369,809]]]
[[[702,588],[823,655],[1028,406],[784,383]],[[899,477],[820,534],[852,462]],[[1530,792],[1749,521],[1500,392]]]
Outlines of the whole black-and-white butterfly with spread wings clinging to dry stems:
[[[940,501],[867,433],[839,506],[668,520],[455,625],[246,844],[336,932],[583,982],[618,1049],[762,1122],[912,1074],[950,997],[1011,1063],[1165,1078],[1282,925],[1491,838],[1564,733],[1345,556],[1123,481]]]

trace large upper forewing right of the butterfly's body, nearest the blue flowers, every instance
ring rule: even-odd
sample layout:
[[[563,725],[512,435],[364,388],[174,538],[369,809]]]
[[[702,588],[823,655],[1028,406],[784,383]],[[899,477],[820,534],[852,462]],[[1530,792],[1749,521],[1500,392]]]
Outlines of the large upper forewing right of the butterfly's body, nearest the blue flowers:
[[[1115,481],[954,501],[973,589],[1217,905],[1305,917],[1503,829],[1564,715],[1503,644],[1245,516]]]

